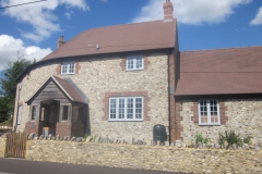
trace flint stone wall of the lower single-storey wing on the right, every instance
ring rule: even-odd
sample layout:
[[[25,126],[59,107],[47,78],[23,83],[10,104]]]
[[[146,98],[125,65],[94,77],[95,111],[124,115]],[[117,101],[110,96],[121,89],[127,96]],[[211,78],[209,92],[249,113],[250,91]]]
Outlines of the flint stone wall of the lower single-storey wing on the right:
[[[183,127],[181,137],[183,141],[191,142],[196,134],[207,136],[217,142],[218,134],[225,130],[235,130],[242,137],[252,136],[252,142],[262,142],[262,99],[226,99],[225,124],[221,126],[199,126],[192,121],[194,115],[192,100],[181,101],[180,116]],[[198,114],[198,113],[196,113]]]

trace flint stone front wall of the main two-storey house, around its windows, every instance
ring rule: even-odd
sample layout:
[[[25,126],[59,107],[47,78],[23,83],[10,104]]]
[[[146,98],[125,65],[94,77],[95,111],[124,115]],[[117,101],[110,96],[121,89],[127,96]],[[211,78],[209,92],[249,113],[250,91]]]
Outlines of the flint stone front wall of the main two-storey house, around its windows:
[[[155,124],[163,124],[168,127],[167,55],[166,53],[146,54],[147,67],[143,71],[122,71],[123,59],[124,57],[108,57],[75,60],[81,67],[78,74],[58,76],[61,78],[70,77],[90,99],[92,135],[108,135],[115,139],[129,139],[133,136],[135,139],[152,140]],[[58,66],[59,62],[43,65],[33,70],[29,76],[24,77],[19,100],[23,103],[23,119],[21,125],[17,126],[17,130],[23,132],[25,123],[28,122],[29,107],[24,102],[37,91],[50,75],[57,75]],[[143,122],[108,122],[108,120],[103,120],[105,116],[104,109],[106,108],[105,95],[107,92],[131,91],[147,92],[150,121],[147,119]]]

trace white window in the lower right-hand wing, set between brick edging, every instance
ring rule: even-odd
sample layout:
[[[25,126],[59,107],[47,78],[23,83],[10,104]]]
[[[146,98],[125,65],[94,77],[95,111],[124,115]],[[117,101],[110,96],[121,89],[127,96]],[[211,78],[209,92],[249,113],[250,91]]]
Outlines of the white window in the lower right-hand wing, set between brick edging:
[[[221,125],[219,104],[217,100],[199,101],[199,125]]]

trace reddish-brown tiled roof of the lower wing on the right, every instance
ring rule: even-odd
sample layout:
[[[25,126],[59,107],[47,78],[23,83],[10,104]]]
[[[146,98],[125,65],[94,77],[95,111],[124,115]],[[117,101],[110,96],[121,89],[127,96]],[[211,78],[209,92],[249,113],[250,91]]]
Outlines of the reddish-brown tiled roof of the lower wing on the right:
[[[262,92],[262,47],[180,53],[176,96]]]

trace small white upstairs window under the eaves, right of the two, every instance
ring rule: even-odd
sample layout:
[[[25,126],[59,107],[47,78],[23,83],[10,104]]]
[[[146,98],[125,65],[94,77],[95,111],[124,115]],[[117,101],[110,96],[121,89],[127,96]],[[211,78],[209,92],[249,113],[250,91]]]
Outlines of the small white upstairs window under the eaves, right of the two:
[[[144,59],[142,55],[128,57],[127,58],[127,70],[143,70]]]

